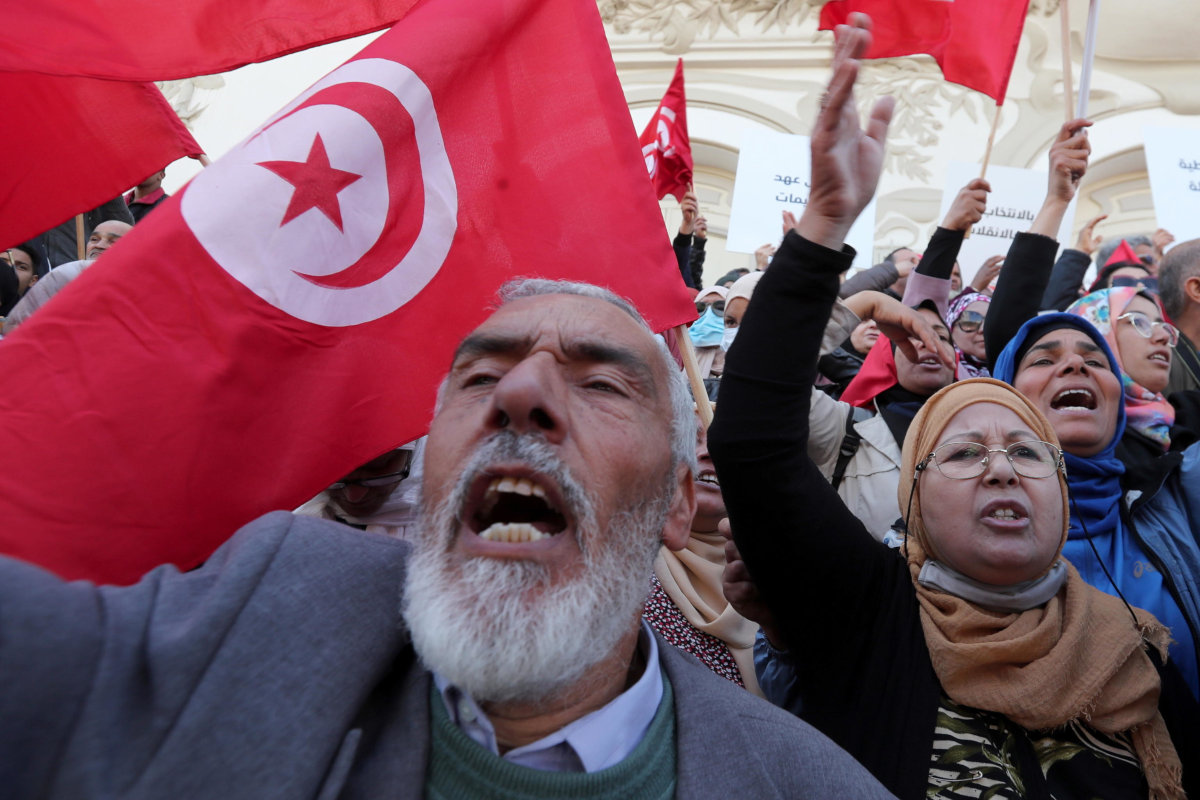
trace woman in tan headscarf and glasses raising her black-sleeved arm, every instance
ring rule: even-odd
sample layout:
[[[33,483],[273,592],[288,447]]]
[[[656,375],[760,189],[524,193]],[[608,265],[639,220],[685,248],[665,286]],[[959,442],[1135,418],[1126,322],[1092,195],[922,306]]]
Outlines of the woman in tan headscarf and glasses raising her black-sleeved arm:
[[[745,608],[754,577],[762,608],[749,615],[790,651],[787,708],[905,800],[1182,798],[1196,776],[1194,704],[1158,667],[1163,627],[1060,558],[1067,493],[1033,403],[986,378],[925,402],[902,450],[900,551],[871,537],[808,455],[814,331],[853,257],[845,237],[892,116],[883,98],[859,126],[869,30],[863,14],[838,28],[809,204],[728,353],[709,450],[745,561],[731,549],[726,596]],[[876,321],[900,348],[936,347],[913,309]]]

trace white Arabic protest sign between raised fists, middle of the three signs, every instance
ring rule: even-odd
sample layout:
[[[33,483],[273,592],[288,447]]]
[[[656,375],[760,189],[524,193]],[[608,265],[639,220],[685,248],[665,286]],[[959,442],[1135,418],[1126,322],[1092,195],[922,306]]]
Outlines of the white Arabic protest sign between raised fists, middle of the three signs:
[[[958,197],[959,190],[979,178],[979,164],[952,161],[946,169],[946,190],[942,193],[942,210],[937,217],[941,224],[946,212]],[[1007,255],[1013,237],[1025,233],[1033,224],[1033,218],[1042,210],[1046,199],[1046,182],[1050,174],[1037,169],[1020,167],[988,167],[988,182],[991,193],[988,194],[988,210],[983,219],[971,228],[971,236],[962,241],[959,251],[959,266],[962,270],[962,284],[974,277],[983,263],[992,255]],[[1072,201],[1058,228],[1058,243],[1070,247],[1070,228],[1075,219],[1075,203]]]

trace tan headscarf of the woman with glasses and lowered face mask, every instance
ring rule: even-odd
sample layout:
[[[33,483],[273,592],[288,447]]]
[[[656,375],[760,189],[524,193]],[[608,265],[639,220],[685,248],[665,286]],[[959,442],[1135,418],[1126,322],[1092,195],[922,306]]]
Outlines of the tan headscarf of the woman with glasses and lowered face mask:
[[[1057,728],[1072,720],[1104,733],[1128,730],[1150,796],[1183,798],[1182,765],[1158,712],[1158,672],[1146,654],[1146,648],[1153,646],[1165,658],[1170,632],[1152,614],[1136,609],[1134,626],[1121,600],[1085,583],[1069,564],[1057,595],[1044,606],[1019,613],[989,610],[917,582],[925,560],[937,559],[937,535],[931,536],[922,522],[920,483],[913,483],[916,467],[932,452],[950,417],[973,403],[1003,405],[1044,441],[1058,444],[1037,407],[1008,384],[990,378],[962,380],[938,391],[908,427],[898,494],[901,509],[912,495],[908,570],[942,688],[955,703],[1003,714],[1032,730]],[[1063,498],[1061,557],[1068,522],[1062,473],[1058,482]]]

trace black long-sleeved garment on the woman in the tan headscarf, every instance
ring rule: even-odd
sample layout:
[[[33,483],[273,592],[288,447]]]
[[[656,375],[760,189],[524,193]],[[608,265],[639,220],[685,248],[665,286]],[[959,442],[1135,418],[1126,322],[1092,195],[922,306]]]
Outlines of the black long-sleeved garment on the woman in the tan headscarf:
[[[787,235],[730,349],[708,446],[734,540],[794,650],[794,710],[917,800],[941,685],[908,566],[846,510],[805,447],[816,343],[850,258]],[[1196,766],[1196,717],[1182,716],[1194,702],[1174,670],[1160,706]]]

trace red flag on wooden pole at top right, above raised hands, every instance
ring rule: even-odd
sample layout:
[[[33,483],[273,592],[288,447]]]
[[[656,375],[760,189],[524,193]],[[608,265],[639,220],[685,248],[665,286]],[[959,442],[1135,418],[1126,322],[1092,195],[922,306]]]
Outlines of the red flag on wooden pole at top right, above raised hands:
[[[1028,0],[830,0],[821,30],[851,13],[870,14],[869,59],[926,53],[946,79],[982,91],[1003,104],[1021,42]]]

